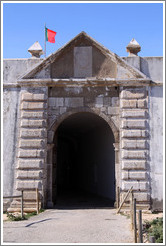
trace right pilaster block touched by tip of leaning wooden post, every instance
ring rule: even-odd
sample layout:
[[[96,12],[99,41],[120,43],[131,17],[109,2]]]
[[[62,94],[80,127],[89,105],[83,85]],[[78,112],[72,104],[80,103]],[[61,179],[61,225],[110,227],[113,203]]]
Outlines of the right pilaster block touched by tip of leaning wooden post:
[[[147,181],[123,181],[122,190],[129,190],[133,186],[133,190],[141,191],[148,189]]]

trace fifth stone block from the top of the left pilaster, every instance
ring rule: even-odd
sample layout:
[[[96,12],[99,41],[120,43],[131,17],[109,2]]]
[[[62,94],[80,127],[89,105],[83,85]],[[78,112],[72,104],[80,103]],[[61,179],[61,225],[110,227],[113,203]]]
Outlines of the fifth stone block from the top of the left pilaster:
[[[21,129],[20,137],[23,138],[45,138],[47,137],[46,129]]]

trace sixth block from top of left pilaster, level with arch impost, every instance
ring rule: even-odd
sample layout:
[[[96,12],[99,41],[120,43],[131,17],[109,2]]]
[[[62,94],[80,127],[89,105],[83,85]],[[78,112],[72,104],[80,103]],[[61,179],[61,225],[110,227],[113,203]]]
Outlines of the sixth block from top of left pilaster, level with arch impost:
[[[46,140],[45,139],[21,139],[19,142],[19,147],[21,148],[45,148]]]

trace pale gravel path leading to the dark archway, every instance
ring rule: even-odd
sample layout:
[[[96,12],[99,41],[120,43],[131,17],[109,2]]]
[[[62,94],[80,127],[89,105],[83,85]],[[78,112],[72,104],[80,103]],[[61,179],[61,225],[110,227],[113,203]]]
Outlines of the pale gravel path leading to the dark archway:
[[[4,243],[132,243],[130,220],[115,209],[50,209],[5,221]]]

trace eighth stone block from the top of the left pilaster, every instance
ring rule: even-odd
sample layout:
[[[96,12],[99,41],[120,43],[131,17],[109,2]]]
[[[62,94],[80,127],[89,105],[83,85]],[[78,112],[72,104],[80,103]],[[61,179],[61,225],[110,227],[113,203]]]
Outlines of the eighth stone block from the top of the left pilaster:
[[[44,167],[44,159],[19,159],[19,169],[42,169]]]

